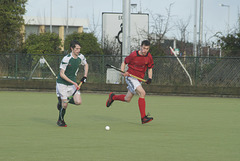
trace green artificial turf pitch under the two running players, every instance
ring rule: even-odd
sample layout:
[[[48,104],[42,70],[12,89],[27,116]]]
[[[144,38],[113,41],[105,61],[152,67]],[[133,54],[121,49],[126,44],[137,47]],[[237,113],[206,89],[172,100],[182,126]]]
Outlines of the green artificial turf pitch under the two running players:
[[[82,93],[58,127],[55,93],[0,92],[3,161],[239,161],[240,99],[135,96],[106,108],[107,94]],[[105,126],[110,126],[110,131]]]

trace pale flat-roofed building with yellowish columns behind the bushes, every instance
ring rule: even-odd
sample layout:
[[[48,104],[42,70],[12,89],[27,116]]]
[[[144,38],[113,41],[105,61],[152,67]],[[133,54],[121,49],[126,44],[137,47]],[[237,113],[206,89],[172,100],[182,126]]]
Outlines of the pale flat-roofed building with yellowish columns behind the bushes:
[[[47,17],[28,17],[23,16],[24,26],[22,27],[22,32],[25,37],[24,40],[30,34],[40,34],[44,32],[54,32],[59,35],[62,39],[62,44],[66,35],[72,34],[73,32],[82,33],[88,30],[89,21],[87,19],[80,18],[50,18]],[[64,50],[62,48],[62,50]]]

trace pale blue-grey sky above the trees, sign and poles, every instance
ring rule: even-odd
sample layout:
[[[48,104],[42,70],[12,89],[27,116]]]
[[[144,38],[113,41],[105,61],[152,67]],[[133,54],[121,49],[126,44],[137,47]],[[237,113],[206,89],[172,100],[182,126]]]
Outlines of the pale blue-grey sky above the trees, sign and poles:
[[[101,31],[102,12],[122,12],[122,0],[68,0],[69,17],[89,19],[90,24],[98,25]],[[52,0],[53,17],[67,17],[67,0]],[[175,24],[179,20],[187,21],[190,17],[190,23],[187,28],[189,31],[189,40],[193,39],[194,24],[194,4],[195,0],[131,0],[131,4],[137,4],[137,8],[132,8],[134,12],[167,15],[166,9],[172,4],[171,8],[171,26],[172,30],[167,34],[169,37],[179,38]],[[198,0],[198,22],[199,22],[199,3]],[[230,28],[238,27],[238,13],[240,12],[240,0],[204,0],[203,3],[203,33],[204,41],[213,36],[216,32],[227,33],[228,7],[221,7],[219,4],[230,6]],[[50,17],[50,0],[28,0],[26,16]],[[94,18],[94,19],[93,19]],[[150,24],[151,25],[151,24]],[[199,24],[197,24],[199,26]],[[198,29],[199,30],[199,29]],[[206,35],[206,36],[205,36]]]

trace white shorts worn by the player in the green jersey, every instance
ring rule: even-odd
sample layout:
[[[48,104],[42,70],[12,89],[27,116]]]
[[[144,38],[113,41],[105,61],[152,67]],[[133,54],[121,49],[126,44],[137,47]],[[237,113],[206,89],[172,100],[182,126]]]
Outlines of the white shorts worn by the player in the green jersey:
[[[56,83],[56,94],[57,97],[61,97],[61,99],[67,99],[74,93],[75,90],[76,88],[74,85]],[[78,90],[76,94],[80,94],[80,91]]]

